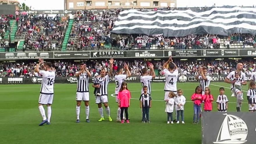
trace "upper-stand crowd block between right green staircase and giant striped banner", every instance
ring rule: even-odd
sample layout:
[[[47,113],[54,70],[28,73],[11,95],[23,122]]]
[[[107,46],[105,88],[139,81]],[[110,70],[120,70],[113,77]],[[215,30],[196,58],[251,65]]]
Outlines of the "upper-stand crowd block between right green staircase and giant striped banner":
[[[99,13],[77,11],[74,14],[75,22],[70,33],[70,37],[78,36],[77,42],[75,45],[74,41],[69,40],[67,47],[75,47],[77,50],[100,49],[112,43],[110,31],[120,11],[120,9],[102,10]]]

